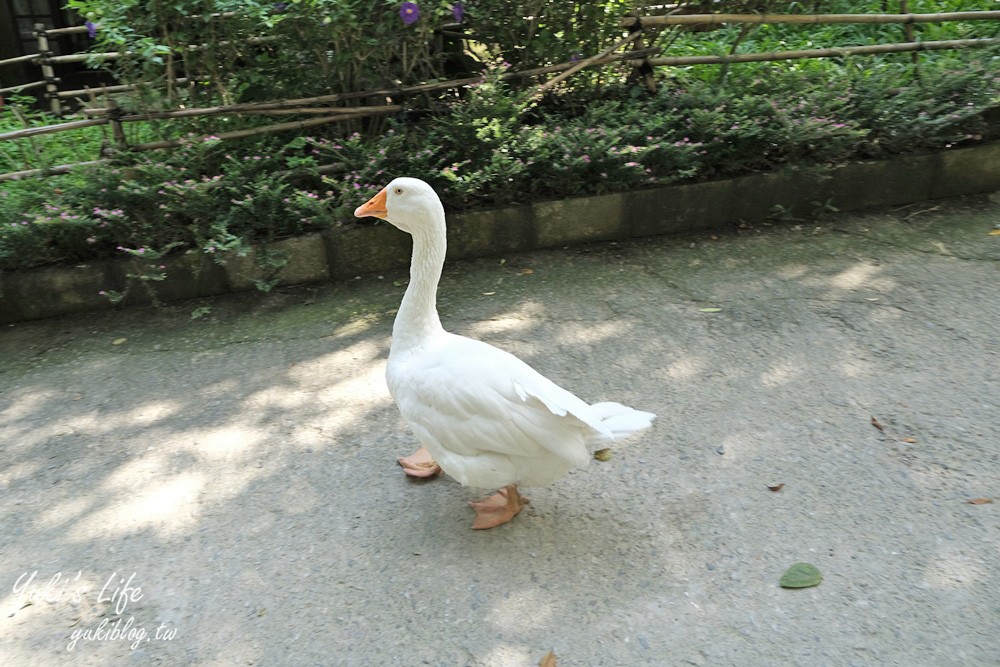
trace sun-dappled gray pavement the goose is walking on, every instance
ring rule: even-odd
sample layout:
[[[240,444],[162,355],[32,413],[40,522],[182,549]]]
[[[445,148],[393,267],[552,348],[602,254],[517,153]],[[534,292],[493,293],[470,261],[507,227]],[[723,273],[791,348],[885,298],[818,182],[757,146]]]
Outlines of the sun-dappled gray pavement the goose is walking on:
[[[659,415],[482,532],[394,463],[405,275],[3,327],[0,664],[998,665],[996,224],[449,264],[446,327]]]

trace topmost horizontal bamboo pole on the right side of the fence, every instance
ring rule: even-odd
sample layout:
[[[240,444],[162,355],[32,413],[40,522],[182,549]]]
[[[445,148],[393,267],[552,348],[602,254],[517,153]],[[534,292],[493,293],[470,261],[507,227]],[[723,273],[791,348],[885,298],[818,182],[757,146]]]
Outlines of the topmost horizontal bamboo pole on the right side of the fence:
[[[1000,11],[942,12],[939,14],[671,14],[626,17],[626,28],[651,25],[716,25],[719,23],[946,23],[949,21],[990,21],[1000,19]]]

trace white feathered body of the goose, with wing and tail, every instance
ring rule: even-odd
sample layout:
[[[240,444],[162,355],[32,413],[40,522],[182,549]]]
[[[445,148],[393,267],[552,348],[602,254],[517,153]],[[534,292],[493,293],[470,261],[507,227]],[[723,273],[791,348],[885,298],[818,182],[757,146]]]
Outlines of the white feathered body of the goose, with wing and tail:
[[[588,405],[517,357],[440,331],[390,352],[389,392],[441,468],[461,484],[544,486],[590,461],[590,449],[653,419],[618,403]]]

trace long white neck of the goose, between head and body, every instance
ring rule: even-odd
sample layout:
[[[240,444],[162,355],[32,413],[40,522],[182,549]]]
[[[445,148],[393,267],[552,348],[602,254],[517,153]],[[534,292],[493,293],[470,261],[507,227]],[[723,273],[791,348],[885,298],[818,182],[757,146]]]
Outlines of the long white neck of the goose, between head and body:
[[[437,288],[448,248],[444,210],[434,211],[433,224],[421,225],[412,235],[410,284],[392,327],[392,351],[412,349],[444,331],[437,314]]]

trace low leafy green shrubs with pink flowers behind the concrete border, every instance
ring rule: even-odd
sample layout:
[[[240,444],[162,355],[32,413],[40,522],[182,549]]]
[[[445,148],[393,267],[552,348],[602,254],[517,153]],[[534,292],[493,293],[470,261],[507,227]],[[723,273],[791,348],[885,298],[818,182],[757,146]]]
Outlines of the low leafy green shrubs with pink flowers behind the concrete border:
[[[615,22],[622,15],[619,4],[605,8],[609,15],[617,12]],[[815,4],[806,9],[848,9],[844,3]],[[870,9],[881,11],[881,3],[874,4],[879,6]],[[943,11],[951,4],[956,3],[911,5],[911,10]],[[449,7],[454,14],[454,5]],[[277,16],[286,26],[306,25],[303,16]],[[402,28],[387,23],[386,30],[412,27],[401,17],[393,20]],[[487,17],[480,14],[476,25],[488,23]],[[607,17],[588,15],[580,25],[601,21],[611,24]],[[512,43],[517,26],[504,25],[494,30],[511,31]],[[987,24],[977,28],[981,25]],[[988,24],[975,35],[996,33],[998,25]],[[742,51],[898,41],[879,34],[889,30],[901,28],[760,26],[741,32],[736,26],[708,37],[676,31],[662,43],[678,55],[696,49],[729,52],[734,43]],[[969,36],[967,24],[921,30],[927,38]],[[410,100],[408,113],[349,131],[222,142],[204,121],[136,125],[133,132],[148,137],[209,136],[174,151],[119,154],[109,166],[4,183],[0,269],[121,254],[150,258],[155,266],[167,252],[192,249],[221,261],[226,251],[243,253],[253,243],[344,224],[359,202],[401,174],[425,178],[456,210],[753,171],[823,169],[846,160],[941,149],[981,139],[987,131],[983,112],[997,103],[1000,91],[1000,52],[994,49],[921,55],[916,65],[901,55],[673,69],[659,74],[653,93],[621,68],[612,70],[614,76],[584,75],[529,101],[530,88],[498,76],[511,67],[499,58],[512,47],[498,39],[493,48],[494,53],[478,54],[491,63],[482,83],[458,96]],[[566,56],[542,42],[534,48],[535,63]],[[147,69],[161,65],[152,62]],[[220,90],[246,101],[239,92],[244,83],[236,76]],[[42,114],[28,118],[23,104],[8,105],[0,114],[0,131],[51,122]],[[213,122],[236,129],[244,121]],[[15,142],[4,142],[0,170],[23,165],[26,156],[44,155],[46,164],[81,155],[93,159],[108,142],[103,128],[65,137],[17,142],[16,149],[8,146]],[[321,173],[321,165],[335,166]]]

